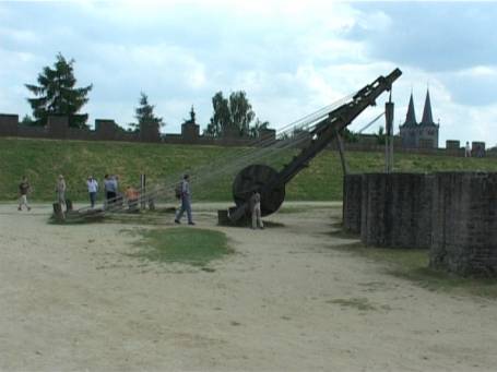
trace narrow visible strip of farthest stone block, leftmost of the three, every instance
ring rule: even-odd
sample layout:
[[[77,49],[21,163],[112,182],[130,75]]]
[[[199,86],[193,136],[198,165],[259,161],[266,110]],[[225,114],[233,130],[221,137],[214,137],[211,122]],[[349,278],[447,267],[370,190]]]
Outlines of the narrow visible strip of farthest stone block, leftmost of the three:
[[[363,175],[346,175],[343,178],[343,228],[360,233],[360,201]]]

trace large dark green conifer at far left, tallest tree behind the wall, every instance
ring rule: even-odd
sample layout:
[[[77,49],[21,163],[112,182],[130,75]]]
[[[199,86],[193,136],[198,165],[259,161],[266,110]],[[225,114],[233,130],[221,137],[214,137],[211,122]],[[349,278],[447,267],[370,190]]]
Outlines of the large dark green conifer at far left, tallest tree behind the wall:
[[[27,98],[37,125],[46,125],[49,116],[67,116],[69,127],[86,128],[87,113],[78,115],[80,109],[88,101],[87,95],[93,85],[76,88],[74,77],[74,60],[67,61],[57,55],[54,69],[45,67],[38,74],[38,84],[25,84],[26,88],[36,98]]]

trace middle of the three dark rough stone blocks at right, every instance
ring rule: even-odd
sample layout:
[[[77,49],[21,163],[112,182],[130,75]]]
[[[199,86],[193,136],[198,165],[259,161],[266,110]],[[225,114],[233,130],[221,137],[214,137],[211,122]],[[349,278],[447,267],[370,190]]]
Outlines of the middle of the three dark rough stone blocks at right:
[[[433,177],[366,173],[362,183],[360,240],[366,245],[429,248]]]

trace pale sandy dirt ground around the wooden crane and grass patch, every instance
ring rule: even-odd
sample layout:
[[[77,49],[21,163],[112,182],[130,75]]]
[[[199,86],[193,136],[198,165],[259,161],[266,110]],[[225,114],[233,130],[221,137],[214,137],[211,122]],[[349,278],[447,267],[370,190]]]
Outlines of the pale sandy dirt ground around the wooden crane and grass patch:
[[[339,204],[298,204],[263,231],[193,208],[236,251],[214,272],[127,255],[129,224],[49,225],[48,205],[0,205],[0,370],[497,369],[496,301],[334,250],[355,242],[330,236]]]

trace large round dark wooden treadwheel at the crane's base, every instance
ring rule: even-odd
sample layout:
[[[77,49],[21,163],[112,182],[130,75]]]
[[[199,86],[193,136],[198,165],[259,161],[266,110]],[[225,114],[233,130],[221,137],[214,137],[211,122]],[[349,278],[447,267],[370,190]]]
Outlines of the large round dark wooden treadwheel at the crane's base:
[[[251,165],[244,168],[233,182],[233,199],[237,206],[247,203],[253,190],[261,194],[261,214],[268,216],[276,212],[285,200],[285,185],[268,189],[277,172],[264,165]]]

